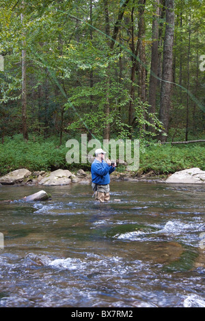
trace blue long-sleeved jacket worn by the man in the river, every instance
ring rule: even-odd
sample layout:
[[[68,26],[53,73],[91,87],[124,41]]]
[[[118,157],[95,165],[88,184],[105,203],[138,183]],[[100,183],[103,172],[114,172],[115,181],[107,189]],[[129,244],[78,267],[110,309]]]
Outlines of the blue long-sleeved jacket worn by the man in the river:
[[[104,160],[101,163],[95,159],[91,165],[92,182],[98,185],[109,184],[109,174],[114,170],[115,167],[109,166]]]

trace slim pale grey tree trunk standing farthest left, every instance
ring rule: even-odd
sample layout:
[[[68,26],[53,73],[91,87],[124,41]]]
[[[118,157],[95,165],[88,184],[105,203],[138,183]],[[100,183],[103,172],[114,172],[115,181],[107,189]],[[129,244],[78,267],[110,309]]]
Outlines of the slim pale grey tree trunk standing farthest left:
[[[24,3],[22,1],[22,6]],[[23,14],[20,14],[20,21],[23,25]],[[23,138],[25,140],[29,139],[28,130],[27,130],[27,72],[26,72],[26,51],[24,49],[25,41],[23,41],[23,50],[22,50],[22,61],[21,61],[21,72],[22,72],[22,130],[23,130]]]

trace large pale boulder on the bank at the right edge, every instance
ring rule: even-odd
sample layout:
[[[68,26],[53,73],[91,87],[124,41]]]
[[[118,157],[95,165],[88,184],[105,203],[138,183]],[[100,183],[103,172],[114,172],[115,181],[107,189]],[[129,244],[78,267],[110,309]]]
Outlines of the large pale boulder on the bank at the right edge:
[[[176,171],[167,178],[167,183],[175,184],[205,184],[205,171],[198,167]]]

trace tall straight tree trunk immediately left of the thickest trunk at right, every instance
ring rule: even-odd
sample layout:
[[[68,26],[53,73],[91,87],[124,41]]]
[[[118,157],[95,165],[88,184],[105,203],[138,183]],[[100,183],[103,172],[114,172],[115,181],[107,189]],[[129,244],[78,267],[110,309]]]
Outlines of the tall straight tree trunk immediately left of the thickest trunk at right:
[[[154,3],[154,17],[152,20],[152,57],[151,57],[151,70],[150,70],[150,88],[149,88],[149,112],[155,113],[156,111],[156,85],[157,85],[157,70],[158,70],[158,45],[159,45],[159,0]],[[152,120],[149,120],[152,122]],[[150,126],[150,131],[154,128]]]

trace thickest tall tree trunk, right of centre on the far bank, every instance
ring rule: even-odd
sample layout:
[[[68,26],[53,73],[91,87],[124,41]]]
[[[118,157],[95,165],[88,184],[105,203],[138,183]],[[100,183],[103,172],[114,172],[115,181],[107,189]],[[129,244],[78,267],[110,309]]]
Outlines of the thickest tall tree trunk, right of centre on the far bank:
[[[163,74],[161,82],[161,100],[159,119],[163,122],[164,133],[167,135],[169,128],[169,109],[172,92],[172,64],[173,64],[173,44],[174,44],[174,0],[166,0],[166,27],[165,41],[163,46]],[[166,141],[163,132],[159,135],[161,141]]]

